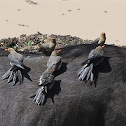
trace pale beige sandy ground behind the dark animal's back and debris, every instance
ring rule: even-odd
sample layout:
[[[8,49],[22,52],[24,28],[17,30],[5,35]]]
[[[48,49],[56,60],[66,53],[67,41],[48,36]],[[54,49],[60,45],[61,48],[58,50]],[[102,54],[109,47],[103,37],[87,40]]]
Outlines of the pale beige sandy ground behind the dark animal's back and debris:
[[[0,0],[0,39],[21,34],[60,34],[126,46],[126,0]]]

